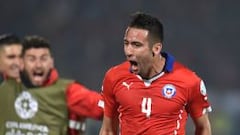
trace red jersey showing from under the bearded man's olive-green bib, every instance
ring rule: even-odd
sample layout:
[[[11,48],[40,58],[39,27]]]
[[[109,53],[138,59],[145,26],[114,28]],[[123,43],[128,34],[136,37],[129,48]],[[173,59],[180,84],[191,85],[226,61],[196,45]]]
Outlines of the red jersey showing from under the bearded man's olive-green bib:
[[[58,78],[57,70],[52,70],[44,86],[53,84]],[[81,135],[85,131],[85,118],[100,120],[103,117],[102,96],[80,83],[69,84],[66,90],[66,101],[69,109],[69,135]]]

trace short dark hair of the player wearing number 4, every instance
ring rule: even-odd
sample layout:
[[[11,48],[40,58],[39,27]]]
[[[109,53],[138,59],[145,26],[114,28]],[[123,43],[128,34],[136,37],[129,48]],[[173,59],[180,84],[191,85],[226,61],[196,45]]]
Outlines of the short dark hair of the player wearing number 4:
[[[156,17],[141,12],[134,13],[132,17],[129,27],[148,30],[153,43],[163,42],[163,25]]]

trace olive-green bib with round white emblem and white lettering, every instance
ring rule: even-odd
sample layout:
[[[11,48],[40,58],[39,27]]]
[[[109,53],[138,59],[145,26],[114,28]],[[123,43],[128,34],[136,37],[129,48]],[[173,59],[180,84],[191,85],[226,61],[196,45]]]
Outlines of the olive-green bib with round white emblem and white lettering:
[[[66,135],[66,89],[70,80],[58,79],[40,88],[5,80],[0,85],[0,135]]]

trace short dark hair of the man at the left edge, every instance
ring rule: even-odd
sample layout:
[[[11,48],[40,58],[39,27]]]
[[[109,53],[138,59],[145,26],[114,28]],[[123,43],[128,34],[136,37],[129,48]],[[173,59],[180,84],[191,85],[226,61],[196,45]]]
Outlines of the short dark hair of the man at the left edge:
[[[9,46],[12,44],[21,44],[21,40],[17,35],[15,35],[15,34],[0,35],[0,47]]]

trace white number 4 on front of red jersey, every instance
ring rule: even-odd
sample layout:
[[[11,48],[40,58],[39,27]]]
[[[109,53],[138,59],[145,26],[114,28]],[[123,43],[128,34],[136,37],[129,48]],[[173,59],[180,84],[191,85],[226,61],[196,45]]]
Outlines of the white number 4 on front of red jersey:
[[[142,113],[146,114],[146,117],[150,117],[152,110],[152,99],[143,98],[142,100]]]

